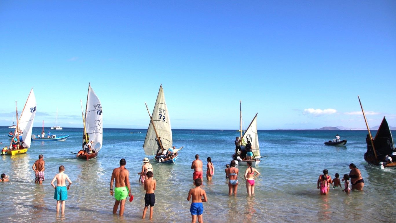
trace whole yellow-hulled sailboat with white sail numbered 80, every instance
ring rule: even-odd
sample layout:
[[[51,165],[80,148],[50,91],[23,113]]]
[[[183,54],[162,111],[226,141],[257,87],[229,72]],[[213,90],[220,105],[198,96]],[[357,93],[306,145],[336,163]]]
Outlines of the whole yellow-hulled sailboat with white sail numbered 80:
[[[10,149],[7,151],[9,155],[16,155],[21,153],[26,153],[27,149],[30,147],[30,140],[33,129],[34,116],[36,115],[36,97],[34,96],[33,89],[30,90],[29,96],[26,100],[25,107],[23,107],[21,117],[18,120],[18,108],[17,102],[15,101],[15,109],[17,116],[17,127],[15,128],[14,135],[11,139]],[[19,130],[22,133],[22,142],[20,141]],[[17,139],[17,144],[15,147],[11,147],[14,138]]]

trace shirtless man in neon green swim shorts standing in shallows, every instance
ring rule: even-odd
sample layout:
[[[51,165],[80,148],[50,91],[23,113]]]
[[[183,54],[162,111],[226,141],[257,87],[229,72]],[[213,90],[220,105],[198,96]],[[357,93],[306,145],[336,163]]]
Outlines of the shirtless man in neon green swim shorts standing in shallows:
[[[118,204],[121,203],[120,216],[124,214],[126,198],[128,196],[131,197],[131,186],[129,185],[129,171],[125,168],[125,164],[125,159],[121,159],[120,167],[113,170],[110,180],[110,195],[114,194],[114,198],[116,198],[116,203],[113,207],[113,214],[117,213]],[[116,188],[114,188],[113,193],[114,180],[116,180]]]

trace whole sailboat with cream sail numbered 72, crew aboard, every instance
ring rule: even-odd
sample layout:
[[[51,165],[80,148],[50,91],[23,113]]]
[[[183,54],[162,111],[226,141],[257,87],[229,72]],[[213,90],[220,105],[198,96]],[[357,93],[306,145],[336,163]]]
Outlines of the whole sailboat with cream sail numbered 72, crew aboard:
[[[164,89],[162,89],[162,85],[160,85],[160,90],[158,91],[152,116],[148,111],[147,104],[146,108],[148,115],[150,116],[150,124],[148,125],[145,142],[143,143],[143,149],[146,155],[153,155],[154,158],[156,158],[157,154],[155,153],[158,149],[156,139],[158,140],[158,138],[160,138],[160,147],[162,150],[161,154],[165,149],[171,148],[173,143],[171,121],[169,119],[168,107],[166,106]],[[179,149],[174,149],[173,156],[166,157],[164,161],[161,161],[161,163],[175,163],[179,157],[179,151],[181,151],[181,149],[183,149],[183,146]],[[157,159],[155,160],[159,162]]]

